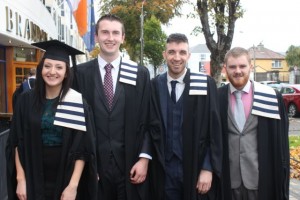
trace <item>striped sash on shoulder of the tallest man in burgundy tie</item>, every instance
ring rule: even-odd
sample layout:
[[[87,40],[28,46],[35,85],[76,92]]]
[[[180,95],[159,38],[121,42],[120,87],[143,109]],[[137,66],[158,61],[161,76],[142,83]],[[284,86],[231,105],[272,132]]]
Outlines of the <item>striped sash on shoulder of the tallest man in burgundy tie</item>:
[[[137,63],[131,60],[122,59],[120,66],[119,81],[130,85],[136,85],[138,66]]]

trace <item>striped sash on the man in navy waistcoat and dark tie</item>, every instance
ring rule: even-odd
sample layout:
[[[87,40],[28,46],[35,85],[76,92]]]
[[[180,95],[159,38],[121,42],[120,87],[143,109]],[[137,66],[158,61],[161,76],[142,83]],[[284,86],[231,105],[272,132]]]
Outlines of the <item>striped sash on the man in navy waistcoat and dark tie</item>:
[[[201,72],[190,73],[190,95],[207,95],[207,75]]]

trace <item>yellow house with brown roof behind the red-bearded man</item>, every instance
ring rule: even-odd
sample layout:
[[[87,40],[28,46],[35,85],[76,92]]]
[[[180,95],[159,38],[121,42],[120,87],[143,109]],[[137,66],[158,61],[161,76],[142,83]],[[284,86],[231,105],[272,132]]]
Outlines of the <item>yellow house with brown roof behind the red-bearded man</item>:
[[[252,77],[255,81],[289,82],[290,72],[285,55],[265,48],[262,43],[248,50],[254,66]]]

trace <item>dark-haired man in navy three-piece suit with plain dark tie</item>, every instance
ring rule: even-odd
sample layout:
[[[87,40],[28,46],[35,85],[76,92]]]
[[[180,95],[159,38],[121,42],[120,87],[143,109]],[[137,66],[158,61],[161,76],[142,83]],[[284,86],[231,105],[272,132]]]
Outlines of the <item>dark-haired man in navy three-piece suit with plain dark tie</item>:
[[[215,81],[186,68],[190,52],[184,34],[168,37],[163,56],[168,72],[151,81],[154,199],[220,199],[222,143]]]

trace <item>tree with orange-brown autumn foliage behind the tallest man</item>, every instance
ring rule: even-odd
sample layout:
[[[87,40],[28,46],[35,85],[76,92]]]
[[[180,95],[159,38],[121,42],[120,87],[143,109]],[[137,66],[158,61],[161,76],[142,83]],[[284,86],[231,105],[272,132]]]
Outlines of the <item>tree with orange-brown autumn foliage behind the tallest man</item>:
[[[123,47],[132,60],[139,61],[142,4],[145,22],[154,15],[162,24],[166,24],[173,17],[181,15],[180,8],[186,2],[188,0],[102,0],[100,13],[114,13],[124,21],[126,39]]]

